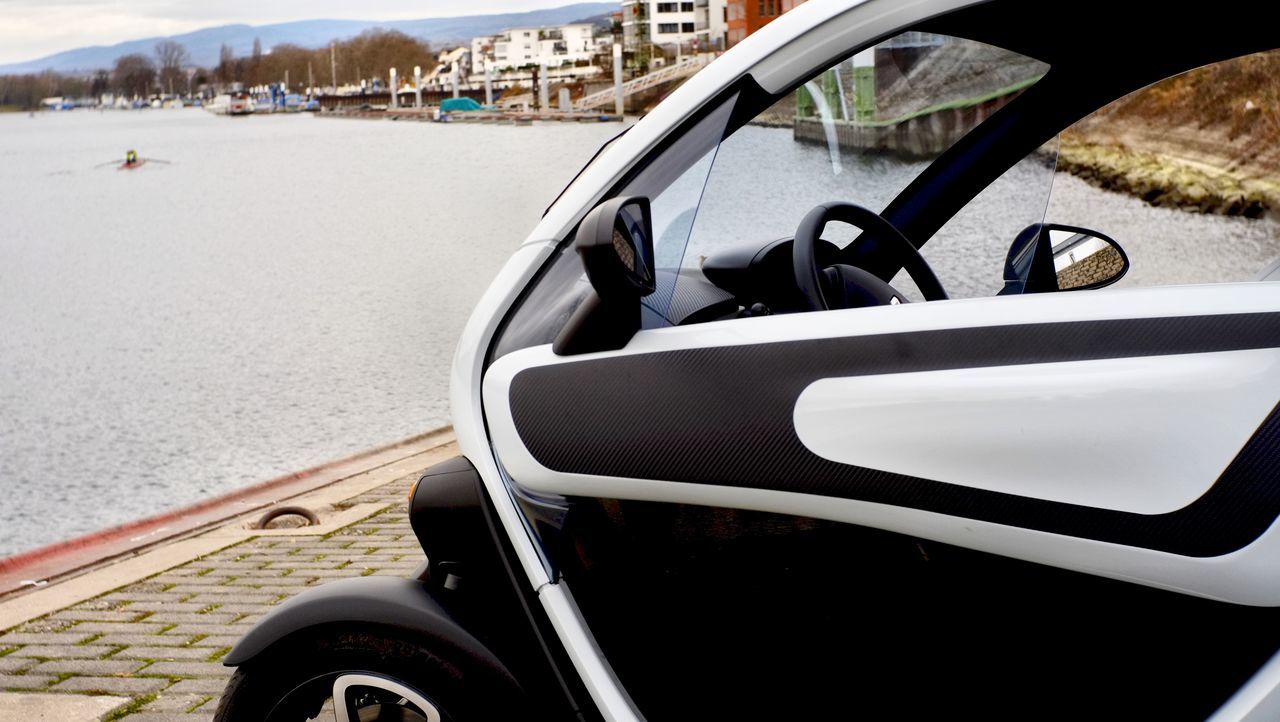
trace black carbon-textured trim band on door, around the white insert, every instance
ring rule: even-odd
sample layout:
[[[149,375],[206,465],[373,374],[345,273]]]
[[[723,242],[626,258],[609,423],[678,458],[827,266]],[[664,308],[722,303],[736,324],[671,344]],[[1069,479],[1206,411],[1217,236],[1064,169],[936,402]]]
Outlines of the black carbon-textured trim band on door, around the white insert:
[[[512,379],[511,411],[529,452],[553,471],[861,499],[1213,557],[1248,545],[1280,515],[1280,407],[1204,495],[1162,515],[837,463],[805,448],[792,411],[805,387],[831,376],[1274,347],[1280,347],[1277,312],[691,348],[526,369]],[[928,439],[922,439],[922,452],[928,452]]]

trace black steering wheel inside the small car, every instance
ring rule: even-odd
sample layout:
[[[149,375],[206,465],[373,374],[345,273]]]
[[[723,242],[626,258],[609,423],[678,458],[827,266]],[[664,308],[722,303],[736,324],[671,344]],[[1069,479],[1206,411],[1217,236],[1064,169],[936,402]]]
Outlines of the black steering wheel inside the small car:
[[[906,236],[902,236],[901,230],[893,228],[893,224],[884,220],[879,214],[867,210],[863,206],[833,201],[822,204],[805,214],[800,221],[800,227],[796,228],[795,239],[791,242],[791,261],[795,266],[796,285],[804,297],[806,311],[826,311],[832,307],[823,292],[822,275],[827,275],[829,282],[840,282],[841,287],[845,279],[854,282],[864,292],[863,296],[870,301],[870,303],[863,305],[890,303],[892,298],[896,298],[899,302],[902,300],[893,291],[893,287],[859,268],[835,265],[824,270],[818,269],[814,245],[822,236],[822,230],[833,220],[847,223],[854,228],[860,228],[881,238],[887,238],[897,253],[902,268],[906,269],[906,273],[915,282],[924,298],[927,301],[946,300],[947,292],[942,289],[938,277],[933,274],[933,269],[929,268],[929,264],[924,262],[924,257],[906,239]]]

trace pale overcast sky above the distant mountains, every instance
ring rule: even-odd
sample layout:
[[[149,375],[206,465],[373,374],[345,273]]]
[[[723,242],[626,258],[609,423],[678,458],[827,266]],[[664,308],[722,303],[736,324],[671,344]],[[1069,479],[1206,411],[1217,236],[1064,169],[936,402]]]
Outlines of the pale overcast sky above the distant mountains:
[[[580,0],[0,0],[0,64],[86,45],[248,23],[403,20],[558,8]]]

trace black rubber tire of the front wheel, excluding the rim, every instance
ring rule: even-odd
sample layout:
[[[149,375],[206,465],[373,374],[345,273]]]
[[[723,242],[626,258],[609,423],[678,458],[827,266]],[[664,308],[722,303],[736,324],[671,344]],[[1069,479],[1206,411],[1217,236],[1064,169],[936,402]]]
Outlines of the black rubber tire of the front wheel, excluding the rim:
[[[392,630],[306,632],[237,668],[214,722],[303,722],[320,712],[333,681],[349,673],[403,685],[430,702],[447,722],[531,717],[511,677],[475,667],[444,659],[421,640]],[[372,718],[420,719],[397,712]]]

